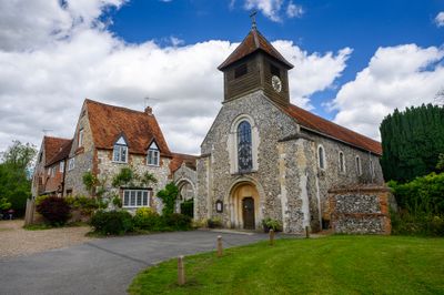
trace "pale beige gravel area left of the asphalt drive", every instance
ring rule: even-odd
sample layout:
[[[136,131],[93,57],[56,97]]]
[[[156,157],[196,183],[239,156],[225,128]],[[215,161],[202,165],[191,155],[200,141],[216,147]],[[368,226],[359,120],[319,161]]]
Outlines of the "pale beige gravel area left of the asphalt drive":
[[[91,230],[89,226],[41,231],[27,231],[22,226],[22,220],[0,221],[0,258],[68,247],[93,240],[84,236]]]

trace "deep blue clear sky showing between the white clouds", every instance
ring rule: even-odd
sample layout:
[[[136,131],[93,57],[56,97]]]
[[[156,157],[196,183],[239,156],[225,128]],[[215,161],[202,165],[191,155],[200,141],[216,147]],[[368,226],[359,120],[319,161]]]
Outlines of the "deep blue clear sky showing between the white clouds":
[[[285,1],[284,1],[285,2]],[[273,21],[259,12],[260,31],[270,40],[293,40],[310,52],[353,49],[347,67],[336,80],[341,85],[364,69],[379,47],[416,43],[421,47],[442,45],[444,29],[435,17],[444,10],[444,1],[432,0],[372,0],[372,1],[297,1],[303,14],[287,18],[282,13]],[[169,37],[183,44],[206,40],[241,41],[250,30],[249,10],[243,1],[228,0],[135,0],[108,14],[112,30],[127,42],[147,40],[168,42]],[[297,64],[295,64],[297,67]],[[311,96],[316,112],[332,119],[322,102],[334,98],[336,89]]]

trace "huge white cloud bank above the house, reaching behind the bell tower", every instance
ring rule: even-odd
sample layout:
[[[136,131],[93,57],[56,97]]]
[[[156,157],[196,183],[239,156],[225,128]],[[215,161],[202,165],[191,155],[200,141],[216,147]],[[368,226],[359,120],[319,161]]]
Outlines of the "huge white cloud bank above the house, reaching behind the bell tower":
[[[39,3],[42,7],[23,12],[23,23],[0,27],[1,32],[27,32],[0,35],[0,44],[10,44],[0,48],[0,151],[13,139],[39,144],[42,129],[53,130],[51,135],[72,136],[84,98],[142,110],[143,98],[150,96],[171,150],[199,153],[223,99],[222,73],[216,67],[236,43],[210,40],[167,48],[153,41],[128,44],[97,24],[100,11],[95,9],[103,10],[103,3],[111,1],[95,1],[92,7],[78,2],[78,12],[68,14],[53,2]],[[60,28],[57,22],[50,21],[52,27],[28,22],[36,11],[49,10],[68,16],[63,23],[70,26],[74,14],[85,16],[88,26],[74,26],[65,30],[65,38],[59,38],[51,29]],[[0,19],[8,13],[0,9]],[[22,40],[33,30],[36,42]],[[351,52],[307,53],[290,41],[273,44],[295,64],[290,73],[291,94],[302,106],[309,105],[312,93],[332,85]]]

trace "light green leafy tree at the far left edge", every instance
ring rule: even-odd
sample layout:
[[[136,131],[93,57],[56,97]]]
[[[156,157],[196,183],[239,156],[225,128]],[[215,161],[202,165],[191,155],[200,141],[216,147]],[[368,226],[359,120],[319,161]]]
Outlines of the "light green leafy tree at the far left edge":
[[[30,169],[37,150],[33,145],[13,141],[8,150],[1,153],[0,195],[10,203],[18,214],[24,212],[27,199],[31,196]]]

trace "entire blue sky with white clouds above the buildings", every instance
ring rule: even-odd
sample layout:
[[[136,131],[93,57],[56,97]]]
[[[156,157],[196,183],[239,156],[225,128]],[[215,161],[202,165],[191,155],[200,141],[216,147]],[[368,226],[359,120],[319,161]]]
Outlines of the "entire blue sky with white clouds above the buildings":
[[[444,89],[444,0],[0,0],[0,151],[72,138],[89,98],[151,105],[170,150],[199,154],[252,11],[294,64],[292,103],[370,138]]]

